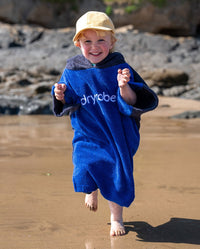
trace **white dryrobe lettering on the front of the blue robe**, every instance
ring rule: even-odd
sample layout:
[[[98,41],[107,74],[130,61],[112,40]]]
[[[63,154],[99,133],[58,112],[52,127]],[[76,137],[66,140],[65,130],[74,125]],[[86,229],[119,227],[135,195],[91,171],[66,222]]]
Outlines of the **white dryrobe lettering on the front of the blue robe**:
[[[81,99],[81,104],[86,105],[86,104],[92,104],[95,105],[98,101],[102,102],[116,102],[116,95],[109,95],[106,94],[105,92],[103,93],[96,93],[94,95],[88,95],[85,96],[83,95],[83,98]]]

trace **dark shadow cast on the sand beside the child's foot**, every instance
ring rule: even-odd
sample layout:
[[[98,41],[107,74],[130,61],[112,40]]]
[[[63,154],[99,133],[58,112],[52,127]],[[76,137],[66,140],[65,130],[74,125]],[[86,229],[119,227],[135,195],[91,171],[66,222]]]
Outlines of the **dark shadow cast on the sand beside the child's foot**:
[[[124,222],[127,233],[136,232],[143,242],[170,242],[200,245],[200,220],[171,218],[152,227],[146,222]]]

